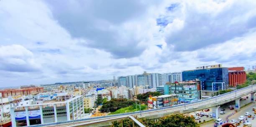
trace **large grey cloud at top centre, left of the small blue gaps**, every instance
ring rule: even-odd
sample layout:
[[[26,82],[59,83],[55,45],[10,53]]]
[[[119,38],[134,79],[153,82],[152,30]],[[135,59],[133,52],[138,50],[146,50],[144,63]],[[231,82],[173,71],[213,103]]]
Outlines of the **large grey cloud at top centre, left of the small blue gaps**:
[[[140,55],[145,46],[135,32],[118,28],[122,23],[141,17],[148,2],[138,0],[46,0],[54,18],[84,46],[110,52],[115,58]],[[132,31],[133,29],[131,29]],[[130,34],[129,34],[130,33]]]

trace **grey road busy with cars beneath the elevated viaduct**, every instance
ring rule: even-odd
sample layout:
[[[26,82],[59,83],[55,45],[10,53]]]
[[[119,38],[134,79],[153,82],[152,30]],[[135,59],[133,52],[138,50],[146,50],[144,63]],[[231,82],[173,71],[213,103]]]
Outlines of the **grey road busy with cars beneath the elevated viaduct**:
[[[251,99],[251,95],[248,95],[248,99],[246,99],[246,100],[242,99],[242,100],[240,101],[240,106],[243,106],[243,105],[245,105],[245,104],[251,102],[250,99]],[[228,115],[230,115],[230,114],[232,114],[233,112],[235,112],[235,110],[230,110],[230,109],[228,109],[228,106],[229,106],[229,105],[232,105],[233,107],[235,107],[235,102],[230,102],[229,104],[222,105],[222,106],[220,106],[220,108],[219,108],[219,117],[220,117],[221,119],[223,119],[223,121],[226,120],[226,117],[227,117]],[[232,115],[232,116],[229,117],[228,119],[229,119],[229,120],[238,120],[238,117],[241,116],[241,115],[244,116],[245,112],[250,112],[252,115],[254,115],[254,112],[252,111],[252,108],[253,108],[253,107],[256,107],[256,103],[251,104],[251,105],[248,105],[248,106],[246,106],[246,107],[243,107],[239,112],[235,113],[234,115]],[[221,114],[220,114],[220,109],[225,109],[225,111],[224,111],[225,114],[221,115]],[[210,115],[210,114],[212,113],[212,110],[210,109],[210,112],[207,112],[207,113]],[[205,119],[205,120],[210,120],[210,119],[212,119],[212,118],[210,118],[210,117],[206,118],[205,116],[204,116],[204,117],[201,117],[201,121],[204,120],[204,119]],[[197,121],[198,121],[198,120],[197,120]],[[256,127],[256,119],[251,120],[251,118],[248,118],[248,121],[249,121],[249,122],[252,122],[253,127]],[[229,122],[230,122],[230,121],[229,121]],[[200,127],[213,127],[214,123],[215,123],[214,121],[213,121],[213,122],[208,122],[208,123],[206,123],[206,124],[202,124]],[[221,126],[219,125],[218,127],[221,127]],[[238,127],[243,127],[243,124],[241,124],[241,125],[238,126]]]

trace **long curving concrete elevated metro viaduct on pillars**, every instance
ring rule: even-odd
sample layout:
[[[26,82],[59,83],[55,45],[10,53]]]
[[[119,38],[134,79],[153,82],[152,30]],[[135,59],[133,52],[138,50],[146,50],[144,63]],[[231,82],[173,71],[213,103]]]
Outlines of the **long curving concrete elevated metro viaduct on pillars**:
[[[48,124],[42,124],[42,125],[32,125],[29,127],[68,127],[68,126],[75,127],[75,125],[77,125],[77,127],[82,127],[83,124],[85,127],[89,122],[90,124],[92,124],[93,122],[95,122],[96,124],[100,120],[104,120],[105,122],[111,122],[113,121],[113,118],[120,118],[120,117],[127,117],[127,116],[146,117],[146,118],[154,119],[154,118],[164,117],[170,114],[195,112],[195,111],[203,110],[209,107],[212,107],[212,111],[213,111],[212,113],[214,113],[215,118],[218,119],[218,110],[220,105],[223,105],[227,102],[231,102],[235,100],[236,109],[239,110],[241,97],[251,94],[251,102],[254,102],[255,93],[256,93],[256,85],[251,85],[239,90],[225,93],[223,95],[218,95],[215,97],[199,100],[196,102],[189,102],[186,104],[173,105],[169,107],[162,107],[159,109],[152,109],[152,110],[129,112],[129,113],[123,113],[123,114],[117,114],[117,115],[91,117],[91,118],[86,118],[82,120],[55,122],[55,123],[48,123]]]

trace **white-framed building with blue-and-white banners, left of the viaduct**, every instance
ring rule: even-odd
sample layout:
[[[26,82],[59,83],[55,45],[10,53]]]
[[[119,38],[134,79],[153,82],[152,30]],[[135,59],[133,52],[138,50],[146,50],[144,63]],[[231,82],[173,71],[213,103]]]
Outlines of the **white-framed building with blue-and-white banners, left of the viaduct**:
[[[10,107],[12,127],[25,124],[27,126],[79,120],[84,117],[83,96],[59,102],[48,101],[42,104]]]

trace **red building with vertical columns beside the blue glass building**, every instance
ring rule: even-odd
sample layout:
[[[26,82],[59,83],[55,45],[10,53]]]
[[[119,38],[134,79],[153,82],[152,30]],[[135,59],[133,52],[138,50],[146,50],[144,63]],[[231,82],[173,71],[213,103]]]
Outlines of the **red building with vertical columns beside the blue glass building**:
[[[244,67],[230,67],[228,68],[229,85],[235,87],[236,85],[244,84],[246,82],[246,72]]]

